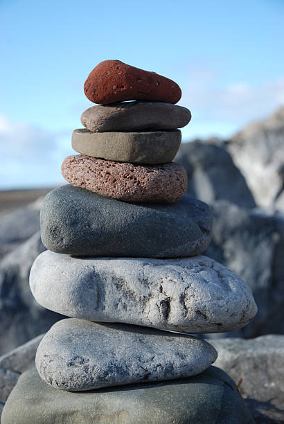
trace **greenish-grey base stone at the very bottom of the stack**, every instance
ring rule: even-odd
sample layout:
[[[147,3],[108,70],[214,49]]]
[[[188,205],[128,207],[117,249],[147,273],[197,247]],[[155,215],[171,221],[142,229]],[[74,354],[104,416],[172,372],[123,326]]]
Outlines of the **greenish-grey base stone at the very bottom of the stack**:
[[[37,371],[19,378],[1,424],[252,424],[238,389],[215,366],[199,376],[84,393],[53,389]]]

